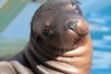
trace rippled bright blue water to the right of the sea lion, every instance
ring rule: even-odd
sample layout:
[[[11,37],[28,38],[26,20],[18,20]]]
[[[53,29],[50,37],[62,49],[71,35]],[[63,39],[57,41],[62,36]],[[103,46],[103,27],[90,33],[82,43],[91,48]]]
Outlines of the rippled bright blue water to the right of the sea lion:
[[[110,0],[88,0],[83,10],[90,23],[93,42],[93,62],[91,74],[111,74],[111,2]],[[92,4],[93,3],[93,4]]]

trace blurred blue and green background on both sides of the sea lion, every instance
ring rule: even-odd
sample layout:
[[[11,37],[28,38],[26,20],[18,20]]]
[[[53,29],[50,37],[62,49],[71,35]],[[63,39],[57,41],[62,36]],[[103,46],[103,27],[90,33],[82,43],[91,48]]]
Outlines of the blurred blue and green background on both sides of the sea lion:
[[[0,57],[26,46],[33,13],[44,0],[0,0]],[[80,0],[93,42],[91,74],[111,74],[111,0]]]

